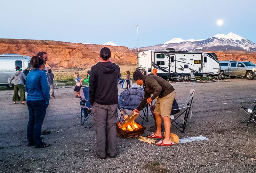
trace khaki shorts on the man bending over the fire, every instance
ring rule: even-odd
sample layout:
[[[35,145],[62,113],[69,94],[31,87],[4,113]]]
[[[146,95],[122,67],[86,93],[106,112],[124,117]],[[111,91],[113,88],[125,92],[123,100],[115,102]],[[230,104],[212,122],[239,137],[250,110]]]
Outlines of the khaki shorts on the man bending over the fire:
[[[156,108],[154,113],[161,115],[162,117],[170,117],[172,111],[172,103],[175,98],[175,91],[172,91],[165,97],[158,98],[156,100]]]

